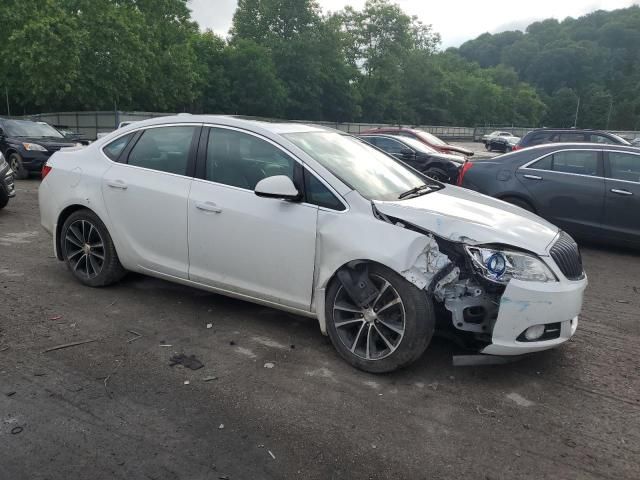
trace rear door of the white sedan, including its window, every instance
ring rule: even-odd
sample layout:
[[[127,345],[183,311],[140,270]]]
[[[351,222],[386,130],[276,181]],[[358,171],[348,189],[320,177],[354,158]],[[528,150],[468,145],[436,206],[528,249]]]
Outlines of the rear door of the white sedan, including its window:
[[[189,159],[199,132],[199,126],[148,128],[102,178],[114,239],[143,270],[188,276]]]

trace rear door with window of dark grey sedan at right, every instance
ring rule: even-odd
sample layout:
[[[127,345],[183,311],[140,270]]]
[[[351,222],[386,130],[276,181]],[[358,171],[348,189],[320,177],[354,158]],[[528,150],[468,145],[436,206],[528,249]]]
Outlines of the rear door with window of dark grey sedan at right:
[[[602,229],[605,180],[600,151],[556,151],[520,167],[516,176],[541,217],[576,234]]]

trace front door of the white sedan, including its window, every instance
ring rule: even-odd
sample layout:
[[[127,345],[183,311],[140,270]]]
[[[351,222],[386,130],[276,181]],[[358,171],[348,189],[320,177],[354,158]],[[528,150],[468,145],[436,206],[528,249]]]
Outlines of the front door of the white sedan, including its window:
[[[203,135],[203,178],[189,197],[189,278],[309,310],[318,207],[253,192],[269,176],[293,180],[300,166],[253,134],[210,128]]]

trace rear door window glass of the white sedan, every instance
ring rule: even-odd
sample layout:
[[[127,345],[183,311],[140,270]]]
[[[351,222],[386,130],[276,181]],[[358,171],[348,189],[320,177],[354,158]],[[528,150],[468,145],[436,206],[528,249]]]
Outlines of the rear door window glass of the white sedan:
[[[180,126],[146,130],[131,150],[127,163],[159,172],[186,175],[196,128]]]

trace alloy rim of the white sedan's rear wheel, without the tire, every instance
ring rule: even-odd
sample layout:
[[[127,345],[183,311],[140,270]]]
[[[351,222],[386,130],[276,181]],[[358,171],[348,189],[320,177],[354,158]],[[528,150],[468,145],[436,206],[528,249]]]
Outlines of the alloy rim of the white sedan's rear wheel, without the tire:
[[[67,229],[64,246],[71,269],[87,278],[95,278],[104,266],[104,241],[98,229],[87,220],[76,220]]]

